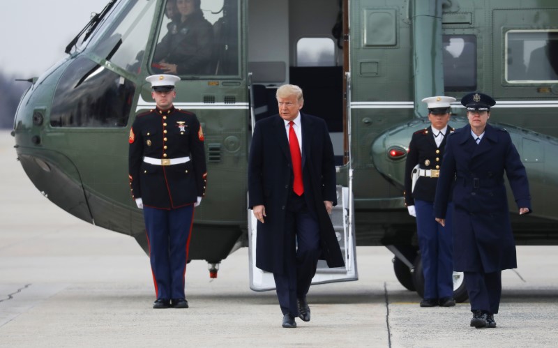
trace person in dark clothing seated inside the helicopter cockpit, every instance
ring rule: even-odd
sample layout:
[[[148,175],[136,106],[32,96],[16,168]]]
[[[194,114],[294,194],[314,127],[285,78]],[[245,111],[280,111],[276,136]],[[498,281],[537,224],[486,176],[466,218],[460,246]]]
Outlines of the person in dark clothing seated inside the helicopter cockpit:
[[[176,0],[178,15],[176,19],[171,18],[172,22],[167,26],[169,31],[153,56],[151,66],[157,72],[177,75],[210,73],[213,27],[205,19],[200,1]]]

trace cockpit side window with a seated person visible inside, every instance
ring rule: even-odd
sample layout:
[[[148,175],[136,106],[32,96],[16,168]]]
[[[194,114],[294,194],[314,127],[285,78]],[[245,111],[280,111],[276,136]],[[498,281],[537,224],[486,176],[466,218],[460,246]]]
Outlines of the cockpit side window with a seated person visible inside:
[[[239,75],[239,0],[167,0],[152,73]]]

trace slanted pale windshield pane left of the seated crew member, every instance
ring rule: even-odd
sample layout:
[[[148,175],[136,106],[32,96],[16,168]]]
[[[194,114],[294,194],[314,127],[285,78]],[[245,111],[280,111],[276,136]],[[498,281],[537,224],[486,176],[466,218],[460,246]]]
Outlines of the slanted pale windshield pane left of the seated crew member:
[[[128,1],[122,10],[114,11],[114,19],[107,20],[112,27],[96,40],[92,53],[125,68],[140,73],[140,63],[149,39],[156,1]]]

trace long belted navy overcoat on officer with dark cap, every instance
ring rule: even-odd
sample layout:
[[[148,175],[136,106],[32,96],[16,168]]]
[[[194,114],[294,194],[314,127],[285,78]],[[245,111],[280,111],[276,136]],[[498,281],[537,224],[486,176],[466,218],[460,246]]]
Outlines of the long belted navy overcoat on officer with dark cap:
[[[527,173],[506,130],[487,124],[479,144],[469,125],[448,137],[434,213],[446,217],[453,186],[455,271],[492,273],[517,267],[504,171],[518,208],[531,212]]]

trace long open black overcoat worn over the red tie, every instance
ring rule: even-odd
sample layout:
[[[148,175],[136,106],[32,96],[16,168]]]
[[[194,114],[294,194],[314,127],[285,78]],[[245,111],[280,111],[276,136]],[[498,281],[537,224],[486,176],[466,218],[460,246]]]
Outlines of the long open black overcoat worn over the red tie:
[[[301,113],[302,167],[306,204],[319,222],[322,258],[328,266],[345,265],[324,201],[337,204],[333,145],[324,120]],[[285,266],[285,207],[293,172],[285,121],[277,114],[256,123],[248,163],[248,206],[263,204],[264,223],[257,222],[256,266],[280,273]]]

